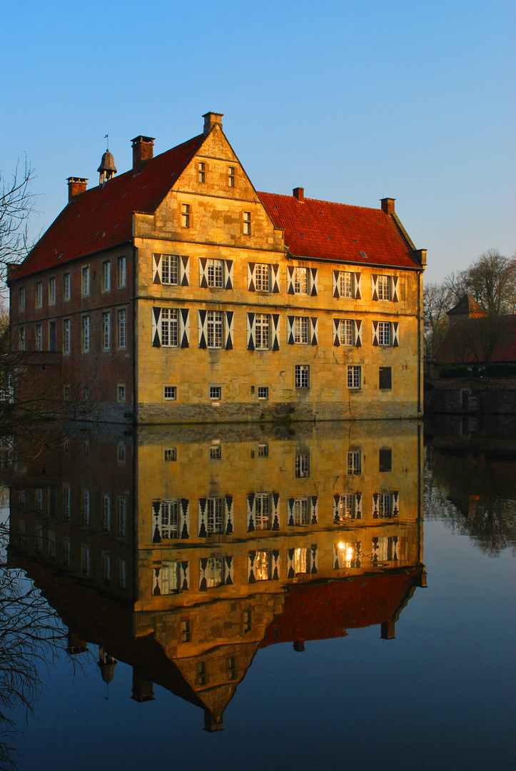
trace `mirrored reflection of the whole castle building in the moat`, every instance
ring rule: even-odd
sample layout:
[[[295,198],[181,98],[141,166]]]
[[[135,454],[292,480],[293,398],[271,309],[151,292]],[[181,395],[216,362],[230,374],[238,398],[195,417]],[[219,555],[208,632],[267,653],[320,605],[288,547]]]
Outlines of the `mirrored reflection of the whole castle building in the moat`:
[[[417,423],[103,430],[19,447],[10,560],[138,702],[159,684],[220,730],[259,648],[390,640],[426,585]]]

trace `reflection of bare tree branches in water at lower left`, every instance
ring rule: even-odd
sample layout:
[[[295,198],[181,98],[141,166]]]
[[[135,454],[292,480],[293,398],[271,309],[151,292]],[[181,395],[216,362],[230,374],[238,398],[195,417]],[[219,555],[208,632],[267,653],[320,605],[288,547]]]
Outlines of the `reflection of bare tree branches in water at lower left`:
[[[39,672],[66,649],[66,627],[20,569],[6,561],[8,526],[0,525],[0,769],[16,768],[12,715],[32,712]]]

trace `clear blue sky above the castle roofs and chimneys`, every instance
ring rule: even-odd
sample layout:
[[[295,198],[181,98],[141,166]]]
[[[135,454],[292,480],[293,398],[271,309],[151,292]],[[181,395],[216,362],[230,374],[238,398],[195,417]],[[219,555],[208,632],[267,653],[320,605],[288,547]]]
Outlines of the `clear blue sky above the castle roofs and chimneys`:
[[[516,251],[514,7],[491,2],[0,0],[0,169],[27,154],[32,233],[89,177],[110,134],[155,153],[224,132],[258,190],[396,212],[427,281]],[[513,46],[514,47],[514,46]]]

